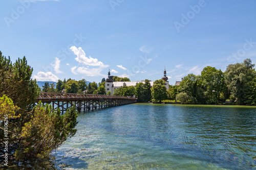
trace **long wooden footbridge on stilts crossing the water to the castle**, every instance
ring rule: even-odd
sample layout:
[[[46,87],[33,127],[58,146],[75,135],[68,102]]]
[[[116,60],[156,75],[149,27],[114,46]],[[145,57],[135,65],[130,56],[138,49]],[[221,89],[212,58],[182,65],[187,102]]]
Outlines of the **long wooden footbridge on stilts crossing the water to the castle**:
[[[94,110],[136,103],[137,99],[131,97],[102,94],[40,92],[40,95],[36,99],[36,103],[39,101],[41,101],[43,105],[51,104],[52,108],[60,108],[63,113],[73,105],[76,106],[78,111]]]

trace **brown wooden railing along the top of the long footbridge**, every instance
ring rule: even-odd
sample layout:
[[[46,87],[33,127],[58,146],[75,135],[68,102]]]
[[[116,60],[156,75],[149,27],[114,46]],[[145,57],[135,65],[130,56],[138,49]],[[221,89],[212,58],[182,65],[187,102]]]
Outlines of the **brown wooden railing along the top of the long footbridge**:
[[[117,96],[117,95],[104,95],[104,94],[77,94],[77,93],[53,93],[53,92],[40,92],[37,100],[46,99],[135,99],[133,97]]]

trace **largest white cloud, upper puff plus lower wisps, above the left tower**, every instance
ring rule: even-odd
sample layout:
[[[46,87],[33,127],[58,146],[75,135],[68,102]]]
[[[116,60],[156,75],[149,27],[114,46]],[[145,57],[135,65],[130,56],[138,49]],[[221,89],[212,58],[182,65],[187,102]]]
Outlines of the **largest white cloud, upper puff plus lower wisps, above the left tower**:
[[[81,47],[77,48],[76,46],[71,46],[70,50],[77,56],[75,60],[83,65],[83,66],[74,66],[71,68],[73,74],[82,74],[84,76],[105,76],[100,72],[108,67],[109,65],[103,64],[101,61],[98,61],[96,58],[92,58],[91,56],[86,57],[86,53],[82,50]],[[91,68],[93,66],[94,68]]]

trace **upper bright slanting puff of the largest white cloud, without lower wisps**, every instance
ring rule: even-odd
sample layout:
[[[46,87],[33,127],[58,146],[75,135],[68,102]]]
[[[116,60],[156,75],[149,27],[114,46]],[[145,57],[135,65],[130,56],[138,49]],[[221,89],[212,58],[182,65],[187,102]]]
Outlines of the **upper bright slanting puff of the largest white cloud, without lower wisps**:
[[[89,56],[89,58],[86,57],[86,53],[84,53],[81,47],[77,48],[76,46],[71,46],[70,50],[72,50],[73,53],[77,56],[75,60],[80,64],[90,66],[104,66],[104,64],[101,61],[98,61],[98,59],[92,58],[91,56]]]

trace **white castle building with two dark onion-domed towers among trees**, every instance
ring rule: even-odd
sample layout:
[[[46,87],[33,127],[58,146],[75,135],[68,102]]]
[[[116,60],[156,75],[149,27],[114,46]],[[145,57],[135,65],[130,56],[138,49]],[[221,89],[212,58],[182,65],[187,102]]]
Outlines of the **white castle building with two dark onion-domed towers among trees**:
[[[108,74],[108,78],[106,78],[106,82],[105,82],[105,90],[106,93],[108,94],[108,92],[111,92],[111,95],[114,94],[114,90],[118,89],[119,87],[122,86],[136,86],[136,84],[142,82],[145,83],[144,81],[136,81],[136,82],[113,82],[113,78],[114,76],[110,76],[110,70],[109,70],[109,74]],[[167,81],[168,78],[166,77],[166,71],[164,68],[164,72],[163,72],[163,78],[162,78],[165,82],[164,85],[166,87],[167,90],[169,90],[169,82]],[[150,85],[153,87],[154,82],[150,81]]]

